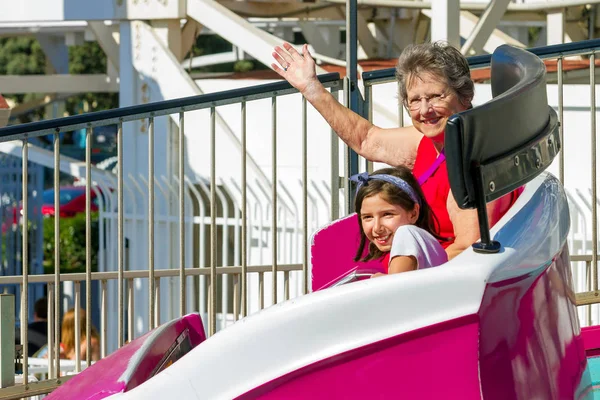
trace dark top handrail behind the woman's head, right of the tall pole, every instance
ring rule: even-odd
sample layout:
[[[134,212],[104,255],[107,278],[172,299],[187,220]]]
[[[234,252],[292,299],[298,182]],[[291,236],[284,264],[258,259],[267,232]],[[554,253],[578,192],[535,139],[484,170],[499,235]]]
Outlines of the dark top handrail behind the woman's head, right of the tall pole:
[[[592,53],[600,49],[600,39],[584,40],[575,43],[556,44],[551,46],[533,47],[527,49],[542,60],[549,58],[568,57],[571,55],[581,55],[582,53]],[[467,57],[471,69],[486,68],[490,66],[491,54]],[[396,68],[386,68],[377,71],[368,71],[362,74],[362,79],[367,85],[376,83],[393,82],[395,80]]]

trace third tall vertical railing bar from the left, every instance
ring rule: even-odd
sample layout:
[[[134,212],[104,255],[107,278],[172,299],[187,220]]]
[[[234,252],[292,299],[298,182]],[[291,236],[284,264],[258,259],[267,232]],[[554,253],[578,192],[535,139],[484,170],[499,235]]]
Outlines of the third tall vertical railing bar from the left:
[[[121,124],[117,132],[120,148]],[[93,128],[85,131],[85,353],[86,365],[92,363],[92,134]],[[103,356],[104,357],[104,356]]]

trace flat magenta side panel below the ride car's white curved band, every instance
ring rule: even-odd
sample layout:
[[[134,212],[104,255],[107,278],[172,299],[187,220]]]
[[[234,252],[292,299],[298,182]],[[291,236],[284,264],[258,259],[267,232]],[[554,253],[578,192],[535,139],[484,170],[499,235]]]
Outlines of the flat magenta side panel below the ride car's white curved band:
[[[238,399],[481,398],[476,315],[322,360]]]

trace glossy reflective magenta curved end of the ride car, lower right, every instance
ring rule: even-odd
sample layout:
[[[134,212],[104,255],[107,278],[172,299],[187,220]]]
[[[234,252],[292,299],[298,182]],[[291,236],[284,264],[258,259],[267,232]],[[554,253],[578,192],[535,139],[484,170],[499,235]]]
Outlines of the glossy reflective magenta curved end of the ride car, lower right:
[[[549,265],[488,284],[479,312],[486,400],[586,393],[590,378],[571,287],[566,247]]]

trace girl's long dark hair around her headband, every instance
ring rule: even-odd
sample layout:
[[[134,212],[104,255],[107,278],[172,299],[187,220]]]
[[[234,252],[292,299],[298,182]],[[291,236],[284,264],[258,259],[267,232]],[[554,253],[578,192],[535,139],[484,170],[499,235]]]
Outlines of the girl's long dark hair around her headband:
[[[439,222],[429,204],[425,200],[425,195],[421,190],[421,186],[413,176],[412,172],[406,167],[396,167],[396,168],[382,168],[371,175],[392,175],[396,176],[400,179],[403,179],[408,183],[416,195],[421,199],[421,207],[419,209],[419,217],[415,222],[415,225],[419,228],[425,229],[427,232],[431,233],[436,239],[447,241],[447,238],[441,237],[437,232],[439,232]],[[369,180],[366,184],[364,184],[356,193],[356,198],[354,200],[354,209],[356,211],[356,217],[358,218],[358,225],[360,226],[360,244],[358,245],[358,249],[356,251],[356,255],[354,256],[354,261],[369,261],[375,260],[383,257],[383,252],[377,248],[377,246],[369,242],[367,239],[367,235],[362,228],[362,220],[360,209],[362,207],[363,200],[367,197],[375,196],[376,194],[381,195],[385,201],[390,204],[396,204],[402,207],[404,210],[410,211],[415,207],[415,202],[410,198],[408,193],[404,190],[400,189],[398,186],[382,181],[379,179]],[[365,246],[369,243],[369,248],[367,254],[365,253]]]

